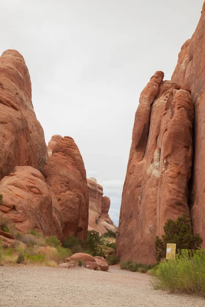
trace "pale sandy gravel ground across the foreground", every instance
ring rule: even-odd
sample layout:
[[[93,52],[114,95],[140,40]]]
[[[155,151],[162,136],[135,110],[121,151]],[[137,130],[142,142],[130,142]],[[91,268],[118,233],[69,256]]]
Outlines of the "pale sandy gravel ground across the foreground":
[[[204,307],[205,300],[154,290],[147,274],[48,267],[0,267],[1,307]]]

